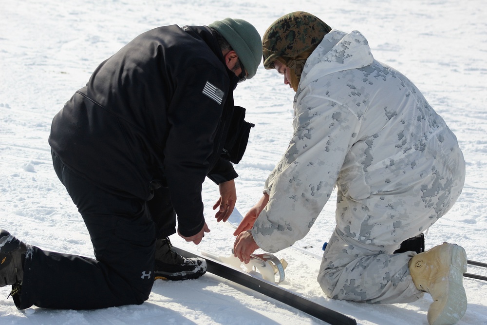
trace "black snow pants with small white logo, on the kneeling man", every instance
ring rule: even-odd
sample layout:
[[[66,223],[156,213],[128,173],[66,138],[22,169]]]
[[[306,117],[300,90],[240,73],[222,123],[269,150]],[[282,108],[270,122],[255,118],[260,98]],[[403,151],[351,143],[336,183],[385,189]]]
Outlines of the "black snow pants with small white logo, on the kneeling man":
[[[53,164],[83,217],[96,260],[32,247],[16,306],[96,309],[142,304],[154,282],[155,239],[175,232],[167,189],[158,190],[150,203],[130,199],[94,186],[54,152]]]

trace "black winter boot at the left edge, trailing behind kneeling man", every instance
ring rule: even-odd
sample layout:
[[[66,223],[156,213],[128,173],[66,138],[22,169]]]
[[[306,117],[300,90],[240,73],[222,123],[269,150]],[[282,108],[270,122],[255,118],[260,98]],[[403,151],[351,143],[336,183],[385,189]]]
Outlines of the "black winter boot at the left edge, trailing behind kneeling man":
[[[0,287],[22,282],[27,247],[8,231],[0,229]]]

